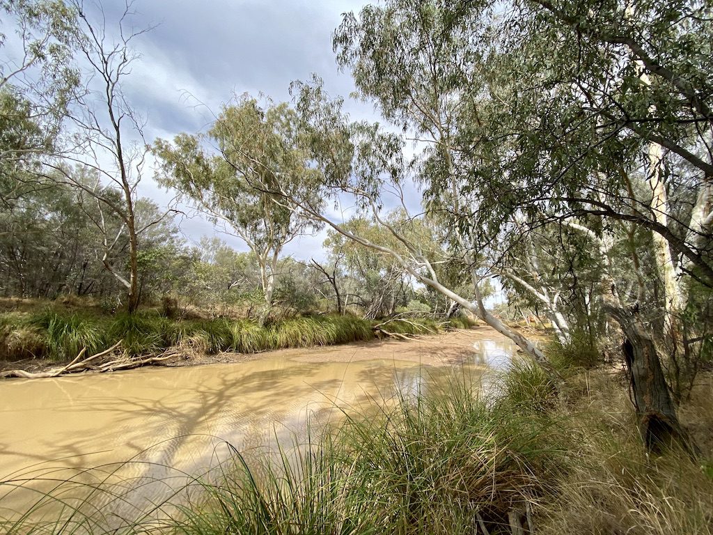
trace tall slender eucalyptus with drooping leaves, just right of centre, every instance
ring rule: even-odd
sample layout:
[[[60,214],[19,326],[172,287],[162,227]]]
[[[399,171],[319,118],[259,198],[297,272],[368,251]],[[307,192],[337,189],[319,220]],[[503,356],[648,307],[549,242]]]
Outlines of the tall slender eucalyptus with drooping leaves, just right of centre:
[[[481,218],[485,224],[476,223],[473,211],[481,205],[481,192],[473,178],[493,156],[479,149],[482,133],[466,141],[459,133],[463,123],[478,128],[481,114],[488,113],[478,103],[486,78],[475,72],[485,73],[483,58],[492,45],[483,21],[493,16],[493,9],[491,3],[460,1],[395,0],[366,6],[358,17],[344,16],[334,49],[338,63],[351,69],[362,98],[374,101],[422,149],[411,166],[425,188],[424,208],[445,226],[451,253],[468,267],[475,305],[461,295],[448,297],[543,360],[531,342],[483,305],[481,285],[490,273],[482,252],[496,243],[507,218],[492,203],[483,210],[488,214]]]

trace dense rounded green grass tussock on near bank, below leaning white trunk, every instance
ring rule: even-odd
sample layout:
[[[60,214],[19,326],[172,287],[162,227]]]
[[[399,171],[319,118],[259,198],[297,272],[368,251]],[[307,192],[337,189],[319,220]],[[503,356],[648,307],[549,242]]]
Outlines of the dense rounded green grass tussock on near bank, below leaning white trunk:
[[[499,410],[454,380],[399,399],[383,418],[349,420],[342,436],[391,530],[445,534],[472,532],[476,512],[491,529],[506,524],[508,511],[547,484],[541,467],[557,464],[549,424]]]

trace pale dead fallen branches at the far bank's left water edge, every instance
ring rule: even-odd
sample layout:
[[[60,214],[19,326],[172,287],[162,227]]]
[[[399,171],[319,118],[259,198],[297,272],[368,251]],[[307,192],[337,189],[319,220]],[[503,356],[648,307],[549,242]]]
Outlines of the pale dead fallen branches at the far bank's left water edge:
[[[96,355],[91,355],[91,357],[83,358],[86,354],[86,347],[79,352],[79,355],[75,357],[72,362],[66,366],[56,367],[51,370],[46,370],[44,372],[26,372],[25,370],[7,370],[6,372],[0,372],[0,377],[21,377],[23,379],[41,379],[43,377],[59,377],[60,375],[67,375],[71,373],[85,372],[91,370],[93,372],[113,372],[115,370],[130,370],[131,368],[138,368],[142,366],[158,364],[165,360],[171,359],[178,355],[178,352],[167,351],[161,353],[160,355],[148,355],[147,357],[131,358],[131,357],[118,357],[107,362],[101,362],[102,357],[111,355],[118,347],[121,345],[121,340],[116,342],[108,350],[97,353]]]

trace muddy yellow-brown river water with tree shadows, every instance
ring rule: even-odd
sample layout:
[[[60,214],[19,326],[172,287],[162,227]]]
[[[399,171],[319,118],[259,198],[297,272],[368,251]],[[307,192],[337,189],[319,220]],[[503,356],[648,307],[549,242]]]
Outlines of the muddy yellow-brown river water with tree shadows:
[[[339,408],[423,392],[454,366],[477,376],[512,354],[508,340],[481,329],[273,352],[237,364],[6,380],[0,517],[28,510],[41,496],[29,489],[46,491],[47,479],[178,481],[180,472],[203,473],[225,459],[227,444],[249,457],[304,437],[312,415],[324,422]],[[157,493],[146,486],[140,494]]]

